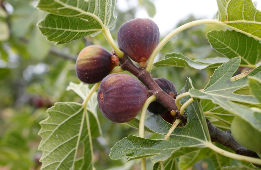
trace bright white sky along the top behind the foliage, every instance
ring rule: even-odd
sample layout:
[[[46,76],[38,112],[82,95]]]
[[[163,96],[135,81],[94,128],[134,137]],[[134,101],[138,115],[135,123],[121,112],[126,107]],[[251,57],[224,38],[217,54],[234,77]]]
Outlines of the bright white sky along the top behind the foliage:
[[[127,2],[128,1],[128,2]],[[172,31],[175,25],[188,15],[193,14],[195,17],[202,19],[213,19],[217,12],[216,0],[152,0],[156,7],[156,15],[150,18],[144,8],[139,8],[136,18],[150,18],[159,27],[161,35]],[[261,9],[261,0],[257,2],[257,9]],[[137,0],[117,0],[116,5],[122,11],[129,6],[137,6]]]

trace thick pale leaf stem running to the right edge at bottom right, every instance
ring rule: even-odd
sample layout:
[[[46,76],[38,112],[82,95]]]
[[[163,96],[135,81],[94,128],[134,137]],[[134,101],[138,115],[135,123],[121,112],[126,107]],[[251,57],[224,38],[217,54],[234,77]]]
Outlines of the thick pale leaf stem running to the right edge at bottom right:
[[[232,152],[228,152],[228,151],[225,151],[225,150],[213,145],[213,143],[211,143],[211,142],[209,142],[207,147],[212,149],[213,151],[215,151],[221,155],[224,155],[226,157],[229,157],[229,158],[246,161],[246,162],[251,162],[251,163],[259,164],[259,165],[261,164],[261,159],[259,159],[259,158],[253,158],[253,157],[249,157],[249,156],[243,156],[243,155],[238,155],[238,154],[235,154]]]

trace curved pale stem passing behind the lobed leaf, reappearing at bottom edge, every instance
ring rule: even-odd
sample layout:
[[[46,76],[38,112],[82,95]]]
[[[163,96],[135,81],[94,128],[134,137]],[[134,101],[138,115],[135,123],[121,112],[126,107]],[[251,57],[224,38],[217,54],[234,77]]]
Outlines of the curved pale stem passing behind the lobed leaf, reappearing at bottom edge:
[[[141,117],[140,117],[140,127],[139,134],[141,138],[144,138],[144,123],[145,123],[145,115],[149,104],[155,101],[157,98],[155,95],[150,96],[144,103],[141,109]],[[141,170],[146,170],[146,158],[141,158]]]

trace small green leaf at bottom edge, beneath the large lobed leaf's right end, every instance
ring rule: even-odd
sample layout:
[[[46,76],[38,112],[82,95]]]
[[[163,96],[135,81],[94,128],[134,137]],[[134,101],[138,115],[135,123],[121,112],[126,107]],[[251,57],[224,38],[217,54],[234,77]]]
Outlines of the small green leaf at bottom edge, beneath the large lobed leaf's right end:
[[[187,169],[192,167],[197,161],[213,155],[215,152],[209,148],[191,152],[179,158],[179,169]]]

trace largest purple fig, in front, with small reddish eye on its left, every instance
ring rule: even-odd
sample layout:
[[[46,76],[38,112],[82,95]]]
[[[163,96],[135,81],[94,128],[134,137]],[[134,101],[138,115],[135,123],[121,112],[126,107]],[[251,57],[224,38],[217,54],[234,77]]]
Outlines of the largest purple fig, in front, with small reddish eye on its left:
[[[107,75],[97,96],[101,113],[110,121],[124,123],[141,111],[147,100],[145,88],[132,76],[124,73]]]

